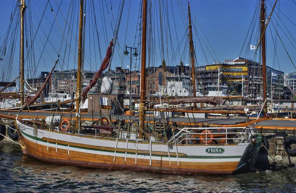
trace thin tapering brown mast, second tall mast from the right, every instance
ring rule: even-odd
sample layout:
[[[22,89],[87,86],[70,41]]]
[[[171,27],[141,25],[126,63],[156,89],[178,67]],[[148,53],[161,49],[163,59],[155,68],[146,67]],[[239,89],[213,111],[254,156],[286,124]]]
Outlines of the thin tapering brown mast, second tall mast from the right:
[[[188,1],[188,17],[189,17],[189,39],[190,39],[189,40],[189,47],[190,47],[190,56],[191,56],[193,97],[196,97],[195,72],[194,72],[194,52],[193,52],[192,26],[191,26],[191,15],[190,15],[189,1]],[[196,103],[194,103],[193,108],[196,109]]]

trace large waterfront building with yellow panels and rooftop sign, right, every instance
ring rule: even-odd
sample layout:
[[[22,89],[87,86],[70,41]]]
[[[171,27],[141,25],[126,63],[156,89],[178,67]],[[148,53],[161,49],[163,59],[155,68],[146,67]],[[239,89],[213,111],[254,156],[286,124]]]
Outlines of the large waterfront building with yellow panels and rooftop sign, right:
[[[196,85],[204,90],[222,91],[227,88],[230,95],[262,96],[262,66],[258,62],[238,57],[197,67],[196,71]],[[279,98],[282,95],[283,74],[266,66],[267,97]]]

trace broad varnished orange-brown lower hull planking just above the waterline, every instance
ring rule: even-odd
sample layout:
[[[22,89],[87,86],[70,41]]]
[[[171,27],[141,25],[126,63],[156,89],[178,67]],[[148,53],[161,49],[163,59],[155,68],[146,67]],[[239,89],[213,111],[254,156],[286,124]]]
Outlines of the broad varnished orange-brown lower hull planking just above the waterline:
[[[68,165],[77,165],[75,163],[81,163],[82,165],[89,165],[91,167],[100,168],[101,164],[110,164],[114,167],[123,167],[123,168],[131,168],[138,169],[146,167],[147,170],[151,169],[149,166],[149,159],[140,159],[138,158],[138,164],[135,164],[135,158],[127,157],[126,163],[124,163],[124,157],[116,157],[115,163],[113,163],[113,156],[109,155],[99,155],[92,153],[84,153],[70,150],[70,155],[68,155],[68,149],[60,149],[58,148],[56,152],[55,147],[50,147],[47,150],[46,145],[36,144],[34,142],[24,140],[27,146],[27,151],[34,157],[42,157],[44,161],[51,162],[51,159],[60,160],[58,163],[68,164]],[[80,165],[81,165],[80,164]],[[197,173],[202,172],[203,170],[208,171],[207,173],[215,173],[216,171],[221,171],[223,173],[232,173],[235,170],[238,162],[215,162],[215,163],[196,163],[196,162],[180,162],[180,166],[177,166],[177,161],[171,161],[171,165],[169,165],[169,161],[163,160],[152,160],[152,167],[159,168],[159,170],[169,170],[169,171],[179,171],[182,173],[182,170],[190,170],[195,171]],[[150,168],[150,169],[149,169]],[[141,170],[142,170],[141,169]],[[145,169],[144,169],[145,170]],[[193,172],[193,173],[195,173]]]

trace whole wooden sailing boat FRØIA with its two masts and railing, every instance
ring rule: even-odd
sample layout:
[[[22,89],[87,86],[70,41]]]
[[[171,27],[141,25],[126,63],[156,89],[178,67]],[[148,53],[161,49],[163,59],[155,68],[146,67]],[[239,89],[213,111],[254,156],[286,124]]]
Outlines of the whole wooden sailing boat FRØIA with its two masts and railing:
[[[189,6],[189,5],[188,5]],[[83,24],[83,0],[80,0],[78,63],[81,62],[81,40]],[[146,68],[147,0],[143,0],[143,35],[141,70]],[[80,59],[79,59],[80,58]],[[79,64],[78,64],[79,65]],[[80,69],[80,68],[78,68]],[[78,70],[79,73],[79,70]],[[79,78],[80,75],[77,74]],[[162,173],[185,174],[231,174],[246,171],[250,166],[253,145],[252,127],[235,128],[166,128],[174,130],[167,140],[152,141],[145,128],[145,73],[141,76],[141,102],[139,136],[135,140],[111,137],[106,129],[95,130],[89,135],[79,128],[79,108],[74,129],[54,127],[55,123],[44,123],[0,114],[2,118],[14,118],[25,154],[38,160],[93,168],[135,169]],[[81,84],[77,81],[77,96],[80,98]],[[77,106],[80,101],[77,100]],[[64,122],[64,121],[63,121]],[[68,121],[69,122],[69,121]],[[109,128],[111,130],[111,128]],[[100,135],[107,132],[107,136]],[[119,134],[119,131],[117,131]],[[225,143],[211,143],[215,135],[224,136]],[[231,137],[236,134],[236,137]],[[192,138],[192,136],[199,138]],[[256,142],[255,142],[256,143]]]

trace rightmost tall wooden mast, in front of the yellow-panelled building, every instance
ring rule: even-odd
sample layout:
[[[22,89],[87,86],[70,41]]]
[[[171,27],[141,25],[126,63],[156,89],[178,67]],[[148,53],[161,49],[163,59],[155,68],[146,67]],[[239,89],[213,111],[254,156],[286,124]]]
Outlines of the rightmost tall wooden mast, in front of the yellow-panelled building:
[[[262,48],[262,82],[263,82],[263,116],[267,113],[267,101],[266,100],[266,56],[265,56],[265,0],[261,0],[261,48]]]

